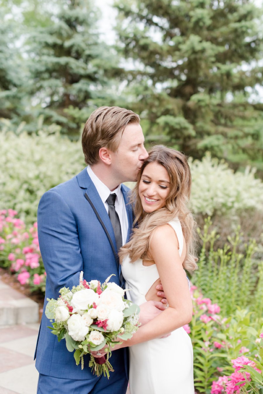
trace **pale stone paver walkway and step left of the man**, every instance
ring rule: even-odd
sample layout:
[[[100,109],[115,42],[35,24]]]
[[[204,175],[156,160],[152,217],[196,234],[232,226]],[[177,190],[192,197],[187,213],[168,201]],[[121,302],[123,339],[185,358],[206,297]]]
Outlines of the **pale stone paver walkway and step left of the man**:
[[[38,304],[0,280],[0,394],[35,394]]]

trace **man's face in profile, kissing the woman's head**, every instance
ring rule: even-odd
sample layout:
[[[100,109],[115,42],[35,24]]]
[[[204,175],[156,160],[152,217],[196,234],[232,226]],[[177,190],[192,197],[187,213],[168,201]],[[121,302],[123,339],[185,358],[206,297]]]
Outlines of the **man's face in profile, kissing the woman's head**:
[[[143,161],[148,157],[144,135],[138,123],[125,127],[116,152],[112,152],[112,175],[117,183],[134,182]]]

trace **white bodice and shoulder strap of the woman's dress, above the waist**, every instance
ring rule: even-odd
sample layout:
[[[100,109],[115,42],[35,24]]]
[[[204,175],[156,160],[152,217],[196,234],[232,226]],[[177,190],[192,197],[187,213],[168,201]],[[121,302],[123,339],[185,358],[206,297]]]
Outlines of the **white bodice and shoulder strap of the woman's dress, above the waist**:
[[[174,229],[178,244],[179,256],[183,252],[183,231],[181,223],[177,217],[168,222]],[[159,273],[155,264],[144,266],[143,260],[138,258],[134,263],[130,262],[129,256],[125,256],[121,264],[121,271],[126,281],[127,298],[136,304],[145,302],[145,295],[153,283],[159,279]]]

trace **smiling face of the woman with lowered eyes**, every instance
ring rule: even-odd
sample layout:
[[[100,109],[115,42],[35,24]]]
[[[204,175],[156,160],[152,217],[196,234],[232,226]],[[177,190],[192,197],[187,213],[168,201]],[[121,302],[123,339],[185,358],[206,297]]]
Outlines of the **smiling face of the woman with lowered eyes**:
[[[170,191],[170,177],[158,163],[146,165],[139,182],[139,197],[142,208],[150,213],[165,206]]]

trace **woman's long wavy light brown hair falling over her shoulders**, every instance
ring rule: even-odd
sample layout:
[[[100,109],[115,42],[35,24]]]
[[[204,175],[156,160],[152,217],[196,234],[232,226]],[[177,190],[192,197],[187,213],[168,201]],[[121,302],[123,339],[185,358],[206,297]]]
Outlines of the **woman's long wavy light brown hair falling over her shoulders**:
[[[158,163],[166,169],[170,177],[170,191],[166,199],[166,205],[163,208],[146,213],[142,208],[138,190],[142,173],[149,163]],[[152,260],[149,240],[153,230],[178,217],[187,248],[183,267],[188,271],[194,271],[197,268],[196,222],[187,206],[191,185],[190,168],[183,153],[163,145],[156,145],[149,151],[149,157],[144,161],[140,169],[138,182],[131,191],[130,203],[133,204],[135,215],[134,229],[132,230],[130,241],[119,251],[120,261],[126,255],[130,256],[131,262],[136,261],[138,258]]]

